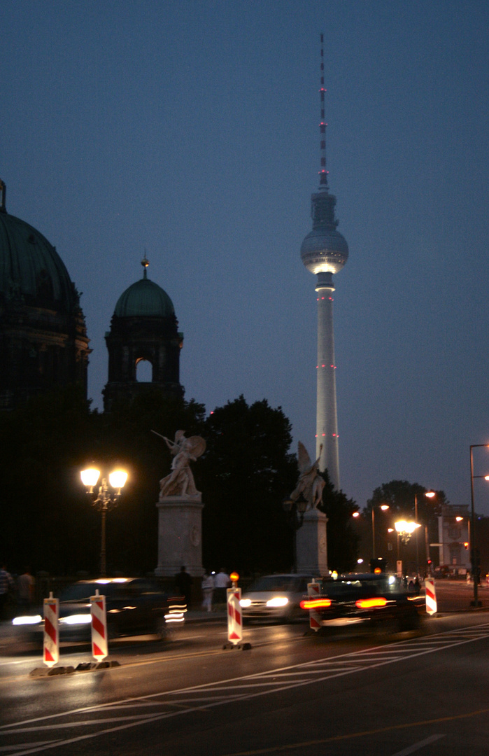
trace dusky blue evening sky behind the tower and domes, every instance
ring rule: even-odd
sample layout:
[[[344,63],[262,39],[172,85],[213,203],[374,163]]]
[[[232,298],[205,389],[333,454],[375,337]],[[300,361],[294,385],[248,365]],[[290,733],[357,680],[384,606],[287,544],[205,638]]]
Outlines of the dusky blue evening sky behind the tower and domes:
[[[342,489],[470,503],[489,443],[486,0],[2,0],[0,177],[83,293],[89,396],[142,276],[175,305],[186,398],[267,398],[315,446],[315,278],[299,249],[327,161]],[[165,429],[159,429],[165,432]],[[274,443],[274,439],[270,439]],[[475,450],[475,475],[489,450]],[[163,471],[162,471],[163,472]],[[489,515],[489,484],[475,481]]]

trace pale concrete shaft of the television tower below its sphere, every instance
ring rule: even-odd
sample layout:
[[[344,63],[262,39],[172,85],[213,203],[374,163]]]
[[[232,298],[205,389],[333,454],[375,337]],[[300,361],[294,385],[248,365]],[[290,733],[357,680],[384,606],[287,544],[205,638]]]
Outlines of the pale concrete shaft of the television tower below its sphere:
[[[336,364],[333,331],[333,275],[317,275],[317,401],[316,457],[339,489],[338,417],[336,412]],[[320,445],[323,445],[320,454]]]

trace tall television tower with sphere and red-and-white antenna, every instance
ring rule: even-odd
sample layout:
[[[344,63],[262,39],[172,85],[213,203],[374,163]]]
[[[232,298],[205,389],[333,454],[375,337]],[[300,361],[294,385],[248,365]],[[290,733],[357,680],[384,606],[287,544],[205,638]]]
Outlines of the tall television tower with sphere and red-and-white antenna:
[[[326,128],[324,116],[324,50],[321,34],[320,76],[320,171],[319,188],[311,195],[312,231],[301,246],[301,259],[317,276],[317,398],[316,457],[339,489],[338,417],[336,412],[336,364],[333,333],[333,273],[341,271],[348,259],[345,237],[336,231],[336,197],[330,194],[326,169]],[[320,445],[323,451],[320,451]]]

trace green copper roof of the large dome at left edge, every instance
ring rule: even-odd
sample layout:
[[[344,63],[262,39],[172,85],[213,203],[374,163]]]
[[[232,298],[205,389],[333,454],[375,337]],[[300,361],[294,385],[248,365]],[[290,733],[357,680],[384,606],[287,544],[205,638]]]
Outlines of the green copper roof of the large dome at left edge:
[[[0,297],[70,314],[77,295],[54,246],[31,225],[0,208]]]

